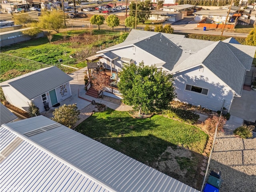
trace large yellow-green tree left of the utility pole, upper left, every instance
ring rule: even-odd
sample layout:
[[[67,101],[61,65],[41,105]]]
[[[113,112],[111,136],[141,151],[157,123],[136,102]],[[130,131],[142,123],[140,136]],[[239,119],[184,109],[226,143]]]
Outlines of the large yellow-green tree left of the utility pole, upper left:
[[[38,26],[42,29],[54,30],[60,32],[60,28],[64,26],[64,18],[62,12],[58,10],[44,11],[39,17]]]

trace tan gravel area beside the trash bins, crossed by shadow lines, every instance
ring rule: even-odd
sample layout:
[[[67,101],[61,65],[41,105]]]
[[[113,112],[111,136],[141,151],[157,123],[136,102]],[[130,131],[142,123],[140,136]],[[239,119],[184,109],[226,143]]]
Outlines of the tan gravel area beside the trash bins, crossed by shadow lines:
[[[256,192],[256,138],[242,139],[231,131],[220,132],[209,166],[221,171],[220,191]]]

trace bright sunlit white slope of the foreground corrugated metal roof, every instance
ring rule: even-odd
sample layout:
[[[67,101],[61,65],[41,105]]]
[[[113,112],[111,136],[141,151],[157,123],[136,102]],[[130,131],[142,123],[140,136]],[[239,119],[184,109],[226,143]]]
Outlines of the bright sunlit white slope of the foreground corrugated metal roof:
[[[12,151],[0,162],[0,191],[111,191],[33,142],[22,140],[4,126],[0,127],[0,152],[2,155],[10,147]],[[17,143],[15,140],[21,142],[13,146]]]

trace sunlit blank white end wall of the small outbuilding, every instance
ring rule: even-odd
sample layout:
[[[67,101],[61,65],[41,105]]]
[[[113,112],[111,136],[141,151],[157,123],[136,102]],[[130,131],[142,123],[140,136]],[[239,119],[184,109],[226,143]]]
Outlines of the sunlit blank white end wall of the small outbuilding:
[[[4,92],[6,100],[10,104],[20,108],[21,110],[28,110],[28,103],[30,103],[30,100],[28,100],[28,98],[20,94],[20,92],[18,92],[12,86],[2,86],[2,90]]]

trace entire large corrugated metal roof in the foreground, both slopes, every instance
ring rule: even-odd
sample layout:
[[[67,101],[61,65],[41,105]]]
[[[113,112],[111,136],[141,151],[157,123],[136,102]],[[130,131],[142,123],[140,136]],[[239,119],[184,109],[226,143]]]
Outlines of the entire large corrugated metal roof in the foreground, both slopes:
[[[1,191],[198,192],[44,116],[0,134]]]

